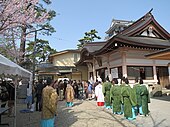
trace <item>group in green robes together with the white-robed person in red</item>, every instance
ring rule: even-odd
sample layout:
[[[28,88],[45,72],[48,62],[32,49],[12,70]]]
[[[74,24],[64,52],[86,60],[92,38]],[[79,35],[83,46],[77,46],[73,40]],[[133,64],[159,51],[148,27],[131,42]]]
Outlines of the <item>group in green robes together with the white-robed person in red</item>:
[[[124,115],[128,120],[134,120],[138,115],[149,115],[149,91],[142,78],[136,78],[130,85],[128,78],[109,81],[107,77],[104,82],[96,80],[94,85],[97,106],[112,109],[113,114]]]

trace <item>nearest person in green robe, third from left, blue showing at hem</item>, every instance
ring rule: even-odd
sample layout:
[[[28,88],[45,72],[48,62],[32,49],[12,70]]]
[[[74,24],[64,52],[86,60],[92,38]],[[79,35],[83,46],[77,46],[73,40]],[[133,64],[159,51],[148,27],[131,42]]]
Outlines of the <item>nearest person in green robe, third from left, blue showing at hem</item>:
[[[129,81],[127,78],[122,79],[121,95],[122,95],[122,103],[124,104],[124,116],[128,120],[136,119],[135,110],[133,107],[137,105],[135,92],[129,86]]]

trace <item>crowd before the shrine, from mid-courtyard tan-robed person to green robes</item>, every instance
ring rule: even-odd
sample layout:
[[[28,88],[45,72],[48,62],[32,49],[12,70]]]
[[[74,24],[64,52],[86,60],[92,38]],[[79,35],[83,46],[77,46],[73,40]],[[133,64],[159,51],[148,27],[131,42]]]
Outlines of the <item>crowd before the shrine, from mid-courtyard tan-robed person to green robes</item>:
[[[61,100],[66,100],[66,106],[74,106],[74,99],[86,99],[97,101],[97,106],[112,109],[115,115],[124,115],[128,120],[134,120],[137,116],[148,116],[150,103],[149,92],[141,78],[136,78],[134,84],[129,84],[128,78],[113,78],[105,81],[97,78],[81,82],[76,80],[58,81],[55,84],[56,93]],[[95,95],[95,96],[93,96]]]

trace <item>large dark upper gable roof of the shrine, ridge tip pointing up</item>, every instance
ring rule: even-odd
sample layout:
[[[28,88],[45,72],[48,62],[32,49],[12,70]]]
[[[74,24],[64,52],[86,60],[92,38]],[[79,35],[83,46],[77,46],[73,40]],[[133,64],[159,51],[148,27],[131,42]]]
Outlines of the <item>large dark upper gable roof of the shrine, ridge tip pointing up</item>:
[[[97,55],[101,52],[104,53],[108,52],[109,50],[118,48],[114,46],[115,43],[159,49],[170,47],[170,34],[154,19],[151,11],[146,13],[143,17],[134,22],[132,25],[129,25],[119,34],[110,38],[101,50],[97,50],[93,52],[93,54]],[[159,36],[161,36],[161,38],[163,39],[149,36],[135,36],[137,33],[141,33],[143,29],[151,24],[152,26],[155,26],[155,29],[157,29],[156,31],[159,32]]]

